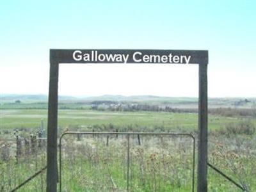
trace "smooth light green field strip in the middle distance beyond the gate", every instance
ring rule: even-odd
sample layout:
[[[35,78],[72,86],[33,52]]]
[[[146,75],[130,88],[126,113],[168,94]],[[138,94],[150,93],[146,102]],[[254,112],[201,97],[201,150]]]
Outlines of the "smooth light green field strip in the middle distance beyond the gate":
[[[47,125],[47,109],[1,109],[0,130],[16,128],[33,128],[40,126],[43,119]],[[218,130],[225,124],[237,123],[247,118],[224,117],[209,115],[209,130]],[[252,120],[256,123],[256,120]],[[198,125],[196,113],[168,113],[168,112],[111,112],[92,111],[90,109],[59,109],[58,125],[63,128],[83,127],[84,125],[113,124],[124,127],[134,125],[147,127],[148,131],[156,127],[164,127],[165,130],[183,129],[195,131]]]

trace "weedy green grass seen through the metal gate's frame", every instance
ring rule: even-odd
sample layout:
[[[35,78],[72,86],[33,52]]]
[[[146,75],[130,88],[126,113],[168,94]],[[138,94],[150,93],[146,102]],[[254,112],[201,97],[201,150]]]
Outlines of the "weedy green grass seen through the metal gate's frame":
[[[63,191],[76,191],[79,187],[77,191],[113,191],[113,183],[118,189],[127,188],[126,139],[112,139],[108,147],[101,139],[92,140],[93,143],[86,140],[87,144],[83,140],[72,141],[68,136],[65,139],[63,155],[68,156],[63,157]],[[161,143],[145,138],[144,145],[132,143],[131,140],[130,191],[183,192],[191,189],[190,145],[187,145],[188,153],[176,156],[179,147],[175,148],[177,146],[167,140]]]

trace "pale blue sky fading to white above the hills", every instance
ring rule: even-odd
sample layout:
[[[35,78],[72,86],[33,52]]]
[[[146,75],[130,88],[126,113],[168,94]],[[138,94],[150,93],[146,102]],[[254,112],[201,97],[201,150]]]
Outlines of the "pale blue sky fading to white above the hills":
[[[206,49],[209,97],[256,97],[255,1],[38,2],[0,3],[1,93],[47,94],[51,48]],[[196,97],[198,72],[61,65],[60,94]]]

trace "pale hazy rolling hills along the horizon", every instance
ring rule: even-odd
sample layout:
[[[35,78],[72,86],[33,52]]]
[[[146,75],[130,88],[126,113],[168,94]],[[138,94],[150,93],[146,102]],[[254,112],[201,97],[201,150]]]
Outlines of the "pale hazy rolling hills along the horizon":
[[[19,94],[1,94],[0,103],[14,103],[20,100],[22,103],[32,102],[48,102],[47,95],[19,95]],[[73,97],[66,95],[59,95],[59,102],[92,102],[95,100],[114,100],[118,102],[140,102],[147,104],[171,104],[175,106],[197,107],[198,98],[196,97],[159,97],[154,95],[102,95],[96,97]],[[238,107],[238,108],[252,108],[256,106],[256,98],[209,98],[209,107]]]

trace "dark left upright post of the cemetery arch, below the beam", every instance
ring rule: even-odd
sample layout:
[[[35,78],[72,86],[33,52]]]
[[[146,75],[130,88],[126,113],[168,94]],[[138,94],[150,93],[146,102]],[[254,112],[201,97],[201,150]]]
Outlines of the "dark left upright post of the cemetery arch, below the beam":
[[[47,126],[47,192],[57,191],[57,127],[58,127],[58,73],[59,64],[51,63]]]

